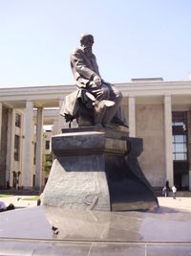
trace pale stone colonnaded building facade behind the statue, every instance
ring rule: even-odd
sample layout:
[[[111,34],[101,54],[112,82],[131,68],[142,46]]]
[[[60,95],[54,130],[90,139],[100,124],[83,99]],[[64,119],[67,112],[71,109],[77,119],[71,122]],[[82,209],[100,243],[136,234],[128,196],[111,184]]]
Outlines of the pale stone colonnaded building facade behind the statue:
[[[168,180],[171,186],[174,183],[172,112],[176,110],[190,113],[191,81],[140,80],[115,85],[124,96],[122,105],[129,123],[130,136],[143,138],[144,151],[139,160],[143,172],[153,186],[163,186],[165,180]],[[61,128],[68,127],[58,112],[65,96],[74,90],[74,85],[0,89],[0,124],[2,125],[0,142],[6,135],[6,144],[0,143],[0,151],[7,152],[6,165],[1,163],[0,166],[0,175],[4,176],[2,187],[6,185],[6,181],[11,181],[13,171],[21,172],[20,185],[24,189],[32,188],[34,174],[35,188],[39,189],[42,186],[43,125],[53,125],[54,134]],[[20,128],[15,128],[16,113],[22,116]],[[2,129],[5,124],[6,134]],[[15,136],[19,136],[19,161],[13,159],[16,147]],[[190,137],[188,140],[190,141]],[[35,165],[33,165],[35,142]],[[190,152],[190,148],[188,151]],[[190,153],[188,154],[190,158],[189,155]]]

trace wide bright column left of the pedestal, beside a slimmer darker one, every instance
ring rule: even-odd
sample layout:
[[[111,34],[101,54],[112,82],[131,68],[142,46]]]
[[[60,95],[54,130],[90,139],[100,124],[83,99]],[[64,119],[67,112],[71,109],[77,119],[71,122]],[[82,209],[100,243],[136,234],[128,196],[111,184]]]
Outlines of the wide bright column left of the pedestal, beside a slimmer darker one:
[[[25,149],[24,149],[24,176],[23,186],[26,189],[32,188],[32,138],[33,138],[33,103],[26,102],[26,118],[25,118]]]

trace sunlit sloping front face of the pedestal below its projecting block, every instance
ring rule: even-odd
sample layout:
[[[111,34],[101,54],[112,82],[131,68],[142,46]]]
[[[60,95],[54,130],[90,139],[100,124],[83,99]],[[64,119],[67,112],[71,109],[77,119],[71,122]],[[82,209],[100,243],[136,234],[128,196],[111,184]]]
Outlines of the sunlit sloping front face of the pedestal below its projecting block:
[[[110,211],[107,178],[100,158],[100,155],[72,155],[55,159],[43,204]]]

